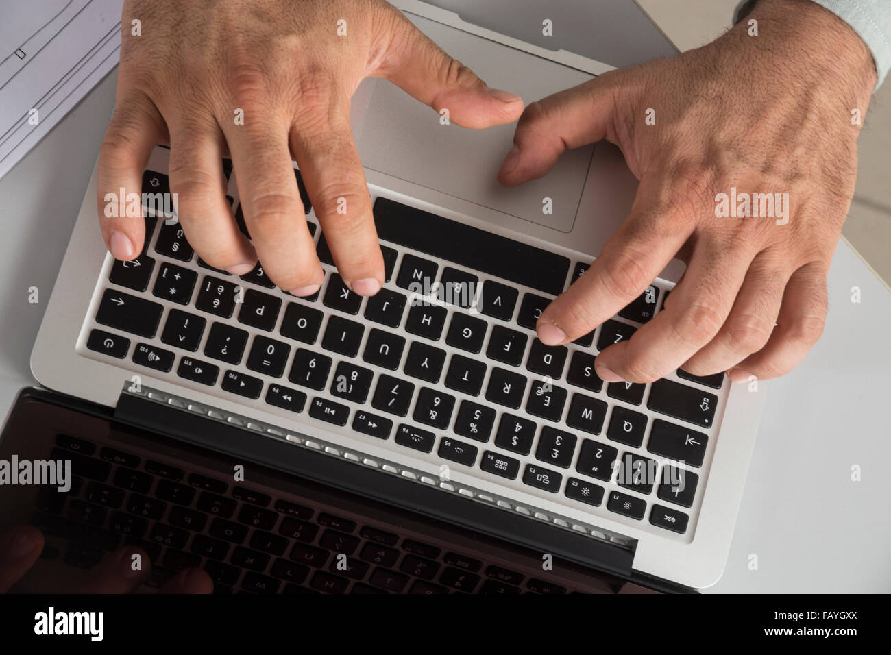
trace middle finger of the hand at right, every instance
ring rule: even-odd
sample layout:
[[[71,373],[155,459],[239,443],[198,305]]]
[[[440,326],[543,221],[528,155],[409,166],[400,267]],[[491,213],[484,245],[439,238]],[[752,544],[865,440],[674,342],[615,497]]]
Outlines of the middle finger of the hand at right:
[[[597,356],[594,368],[601,380],[652,382],[690,359],[715,338],[730,315],[755,255],[720,236],[703,236],[693,250],[683,284],[671,292],[671,307],[634,332],[630,340],[609,346]]]

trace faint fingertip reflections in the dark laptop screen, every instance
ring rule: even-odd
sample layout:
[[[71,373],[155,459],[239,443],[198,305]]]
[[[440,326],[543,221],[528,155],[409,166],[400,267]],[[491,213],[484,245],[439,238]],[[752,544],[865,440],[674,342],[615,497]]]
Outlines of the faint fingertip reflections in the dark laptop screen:
[[[44,536],[37,528],[20,526],[0,536],[0,594],[8,592],[40,558]],[[135,568],[134,554],[138,554]],[[149,579],[151,559],[134,546],[124,546],[110,553],[89,572],[85,585],[74,590],[60,590],[77,594],[129,594]],[[210,594],[214,584],[201,569],[183,569],[171,577],[160,589],[162,594]]]

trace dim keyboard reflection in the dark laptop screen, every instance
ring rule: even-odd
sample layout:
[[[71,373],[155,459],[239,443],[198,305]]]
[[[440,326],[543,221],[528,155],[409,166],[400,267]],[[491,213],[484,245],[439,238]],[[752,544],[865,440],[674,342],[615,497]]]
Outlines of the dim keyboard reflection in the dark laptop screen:
[[[147,585],[200,567],[215,594],[569,591],[542,571],[506,568],[309,499],[274,498],[87,439],[58,434],[50,456],[71,462],[72,481],[68,493],[46,487],[38,496],[32,524],[61,540],[47,542],[45,560],[92,569],[132,544],[151,557]]]

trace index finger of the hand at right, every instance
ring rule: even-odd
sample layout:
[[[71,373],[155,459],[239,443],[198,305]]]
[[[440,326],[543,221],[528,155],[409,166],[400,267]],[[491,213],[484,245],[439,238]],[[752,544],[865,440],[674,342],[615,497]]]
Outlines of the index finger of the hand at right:
[[[535,326],[549,346],[578,339],[642,294],[674,257],[692,230],[680,210],[660,212],[652,185],[643,180],[629,217],[576,282],[544,309]]]

